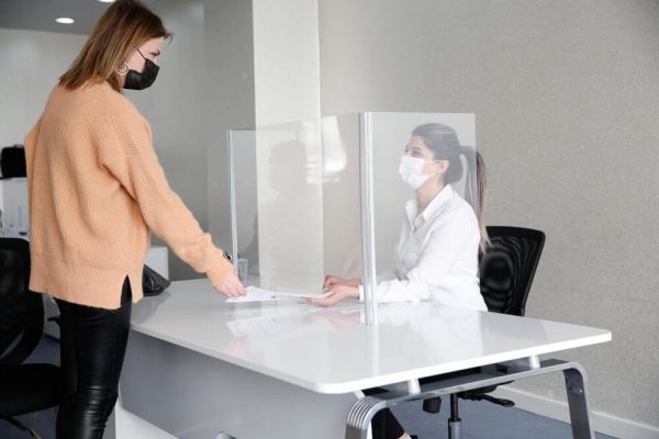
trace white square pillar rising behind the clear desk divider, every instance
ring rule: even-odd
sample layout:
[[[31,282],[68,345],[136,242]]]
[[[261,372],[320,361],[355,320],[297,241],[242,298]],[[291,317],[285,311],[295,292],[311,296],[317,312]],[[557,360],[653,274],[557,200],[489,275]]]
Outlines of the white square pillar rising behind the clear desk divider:
[[[315,1],[254,0],[256,125],[311,121],[259,130],[258,245],[261,285],[321,288],[323,193],[319,143],[320,59]]]

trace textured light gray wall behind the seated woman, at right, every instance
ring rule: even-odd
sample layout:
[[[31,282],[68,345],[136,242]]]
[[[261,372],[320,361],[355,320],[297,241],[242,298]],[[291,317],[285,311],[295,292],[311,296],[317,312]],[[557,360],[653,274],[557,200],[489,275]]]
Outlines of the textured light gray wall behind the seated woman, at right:
[[[611,329],[560,357],[593,409],[659,426],[659,4],[319,4],[323,114],[474,112],[488,223],[547,233],[527,315]],[[565,398],[560,379],[518,386]]]

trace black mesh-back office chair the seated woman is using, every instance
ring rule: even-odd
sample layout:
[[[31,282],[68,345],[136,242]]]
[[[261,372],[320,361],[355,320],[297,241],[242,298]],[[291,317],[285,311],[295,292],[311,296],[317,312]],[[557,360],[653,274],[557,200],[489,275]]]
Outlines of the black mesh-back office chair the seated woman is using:
[[[480,290],[488,311],[523,316],[545,245],[545,234],[532,228],[488,226],[488,235],[491,245],[481,255],[479,264]],[[423,381],[432,381],[432,378]],[[451,434],[451,425],[460,423],[458,398],[485,399],[504,407],[515,405],[510,399],[489,395],[495,389],[496,386],[481,387],[450,395],[449,437],[457,439]],[[440,404],[440,398],[429,398],[424,401],[423,409],[439,413]],[[454,431],[459,431],[459,428]]]

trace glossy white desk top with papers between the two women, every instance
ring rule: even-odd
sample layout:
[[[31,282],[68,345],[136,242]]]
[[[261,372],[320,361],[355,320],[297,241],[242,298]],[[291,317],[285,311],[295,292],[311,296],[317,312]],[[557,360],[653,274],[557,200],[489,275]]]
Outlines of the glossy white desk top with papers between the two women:
[[[611,340],[584,326],[448,308],[225,303],[205,280],[172,282],[133,309],[133,330],[320,393],[348,393]]]

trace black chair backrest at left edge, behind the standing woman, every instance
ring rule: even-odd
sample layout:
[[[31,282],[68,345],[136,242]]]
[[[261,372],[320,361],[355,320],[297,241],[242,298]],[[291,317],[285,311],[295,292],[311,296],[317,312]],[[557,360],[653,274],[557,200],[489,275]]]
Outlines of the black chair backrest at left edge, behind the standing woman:
[[[43,299],[29,283],[30,244],[0,238],[0,364],[22,363],[43,335]]]

